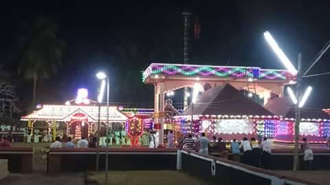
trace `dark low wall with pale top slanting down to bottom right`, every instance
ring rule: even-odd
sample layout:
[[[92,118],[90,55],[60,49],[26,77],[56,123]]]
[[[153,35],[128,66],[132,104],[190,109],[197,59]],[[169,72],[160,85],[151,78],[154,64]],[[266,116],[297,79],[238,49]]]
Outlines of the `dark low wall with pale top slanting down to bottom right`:
[[[210,184],[320,185],[186,149],[177,151],[177,169]]]

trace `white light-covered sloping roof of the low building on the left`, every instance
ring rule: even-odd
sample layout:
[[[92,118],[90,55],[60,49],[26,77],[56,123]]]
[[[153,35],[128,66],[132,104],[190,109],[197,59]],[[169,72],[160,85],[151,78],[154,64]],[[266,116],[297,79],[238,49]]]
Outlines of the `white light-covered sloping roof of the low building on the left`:
[[[21,117],[22,121],[72,121],[87,120],[98,121],[98,106],[89,105],[43,105],[32,114]],[[124,122],[127,116],[122,114],[116,106],[109,107],[109,121]],[[100,121],[107,121],[107,106],[100,108]]]

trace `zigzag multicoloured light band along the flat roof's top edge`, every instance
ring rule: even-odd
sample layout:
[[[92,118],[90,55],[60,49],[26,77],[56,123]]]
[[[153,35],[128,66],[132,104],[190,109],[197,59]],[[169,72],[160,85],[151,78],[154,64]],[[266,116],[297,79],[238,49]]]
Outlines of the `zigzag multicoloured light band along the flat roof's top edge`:
[[[260,69],[259,67],[243,66],[203,66],[183,64],[151,64],[143,73],[143,82],[150,75],[199,75],[202,77],[252,77],[257,79],[292,78],[286,70]]]

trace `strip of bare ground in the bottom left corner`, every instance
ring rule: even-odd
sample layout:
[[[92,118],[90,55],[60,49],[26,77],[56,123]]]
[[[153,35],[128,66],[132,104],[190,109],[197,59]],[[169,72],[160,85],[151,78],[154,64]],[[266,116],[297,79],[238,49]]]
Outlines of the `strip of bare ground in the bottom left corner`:
[[[61,175],[44,175],[44,174],[13,174],[0,180],[3,185],[84,185],[83,173],[65,173]]]

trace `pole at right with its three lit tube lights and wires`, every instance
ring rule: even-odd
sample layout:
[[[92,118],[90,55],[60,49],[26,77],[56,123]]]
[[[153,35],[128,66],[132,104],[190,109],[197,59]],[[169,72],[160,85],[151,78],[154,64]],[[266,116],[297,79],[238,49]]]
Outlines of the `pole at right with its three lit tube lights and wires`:
[[[297,75],[297,83],[296,83],[296,96],[294,96],[293,91],[291,88],[288,88],[289,96],[292,98],[293,103],[295,104],[296,109],[296,123],[294,125],[294,171],[298,170],[299,167],[299,156],[298,156],[298,148],[299,148],[299,125],[300,125],[300,108],[303,108],[305,102],[307,101],[307,98],[309,97],[309,94],[311,93],[312,88],[308,87],[305,91],[303,97],[301,96],[301,82],[303,80],[303,77],[308,77],[307,73],[311,70],[311,68],[320,60],[320,58],[323,56],[323,54],[329,49],[330,42],[327,42],[325,47],[318,53],[316,58],[314,58],[314,61],[311,62],[311,65],[307,68],[305,72],[302,71],[301,63],[302,63],[302,57],[301,53],[298,54],[298,71],[294,68],[294,65],[292,65],[292,62],[285,56],[285,53],[282,51],[282,49],[278,46],[270,32],[265,32],[263,34],[265,37],[265,40],[268,42],[270,47],[273,49],[274,53],[276,53],[276,56],[279,60],[285,65],[287,70],[292,75]],[[314,75],[311,75],[314,76]]]

